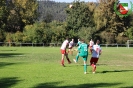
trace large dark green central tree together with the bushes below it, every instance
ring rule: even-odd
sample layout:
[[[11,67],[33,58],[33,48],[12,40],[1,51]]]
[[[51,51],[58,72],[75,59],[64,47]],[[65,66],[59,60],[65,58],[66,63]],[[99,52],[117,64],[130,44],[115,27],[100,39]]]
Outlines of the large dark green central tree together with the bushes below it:
[[[66,30],[71,38],[85,38],[89,40],[95,32],[93,13],[95,5],[80,1],[74,1],[72,7],[66,8]]]

